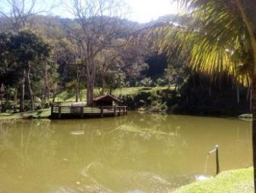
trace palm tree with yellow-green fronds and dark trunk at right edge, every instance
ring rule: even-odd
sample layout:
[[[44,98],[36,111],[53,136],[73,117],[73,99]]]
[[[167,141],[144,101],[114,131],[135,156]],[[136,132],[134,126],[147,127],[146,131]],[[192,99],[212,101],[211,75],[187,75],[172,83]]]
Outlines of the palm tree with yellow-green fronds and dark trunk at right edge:
[[[253,166],[256,187],[256,1],[177,0],[188,11],[182,26],[157,27],[161,50],[189,54],[194,70],[209,75],[225,73],[252,84]],[[255,191],[256,192],[256,191]]]

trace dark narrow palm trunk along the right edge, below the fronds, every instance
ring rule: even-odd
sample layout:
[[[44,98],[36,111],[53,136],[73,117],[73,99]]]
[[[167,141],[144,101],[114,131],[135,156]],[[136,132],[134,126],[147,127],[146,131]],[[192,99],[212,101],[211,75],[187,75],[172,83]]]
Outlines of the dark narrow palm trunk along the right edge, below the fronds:
[[[252,78],[252,146],[253,146],[253,172],[254,172],[254,186],[256,187],[256,76]],[[256,190],[255,190],[256,192]]]

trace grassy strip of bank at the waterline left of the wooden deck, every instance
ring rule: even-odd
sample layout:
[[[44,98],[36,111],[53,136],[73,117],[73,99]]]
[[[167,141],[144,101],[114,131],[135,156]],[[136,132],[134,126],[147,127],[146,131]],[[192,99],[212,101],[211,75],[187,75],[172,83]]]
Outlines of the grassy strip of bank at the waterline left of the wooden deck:
[[[51,115],[50,109],[42,109],[34,112],[0,113],[0,120],[15,119],[45,119]]]

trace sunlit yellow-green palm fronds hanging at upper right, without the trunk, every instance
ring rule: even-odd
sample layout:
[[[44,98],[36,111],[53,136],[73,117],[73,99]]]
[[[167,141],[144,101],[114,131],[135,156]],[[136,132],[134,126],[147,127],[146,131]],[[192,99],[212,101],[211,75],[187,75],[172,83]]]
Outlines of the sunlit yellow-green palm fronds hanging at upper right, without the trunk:
[[[193,8],[189,12],[193,22],[181,27],[165,24],[153,29],[150,35],[158,35],[159,52],[171,56],[175,47],[189,55],[194,70],[208,75],[227,73],[245,84],[248,73],[237,72],[237,66],[244,63],[243,58],[234,59],[233,55],[235,52],[250,55],[250,39],[234,0],[180,0],[180,3],[190,10]]]

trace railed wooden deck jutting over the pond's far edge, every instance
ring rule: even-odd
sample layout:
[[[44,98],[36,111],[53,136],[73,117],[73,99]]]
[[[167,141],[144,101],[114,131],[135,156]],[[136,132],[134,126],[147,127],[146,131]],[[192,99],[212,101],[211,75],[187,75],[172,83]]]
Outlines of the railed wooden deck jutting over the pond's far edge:
[[[104,118],[110,116],[125,116],[127,107],[70,107],[52,105],[51,118]]]

